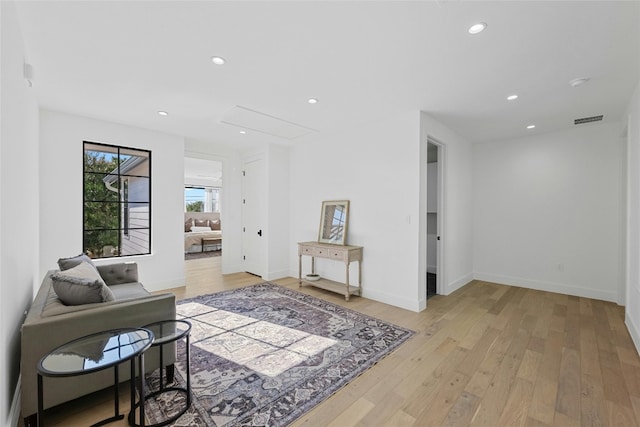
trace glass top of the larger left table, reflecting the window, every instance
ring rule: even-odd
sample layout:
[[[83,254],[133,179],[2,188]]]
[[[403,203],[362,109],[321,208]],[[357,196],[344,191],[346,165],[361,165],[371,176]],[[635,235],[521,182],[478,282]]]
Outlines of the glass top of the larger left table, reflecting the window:
[[[98,332],[49,352],[40,359],[38,372],[63,377],[99,371],[136,357],[153,339],[153,333],[144,328]]]

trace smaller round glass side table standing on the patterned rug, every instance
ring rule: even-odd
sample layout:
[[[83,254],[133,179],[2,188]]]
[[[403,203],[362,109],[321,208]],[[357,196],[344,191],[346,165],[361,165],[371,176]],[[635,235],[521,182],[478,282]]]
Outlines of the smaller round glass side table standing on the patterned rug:
[[[167,392],[178,392],[182,393],[186,396],[186,403],[184,408],[178,411],[176,414],[172,415],[168,419],[156,423],[147,425],[147,427],[160,427],[170,424],[180,418],[187,410],[191,407],[191,374],[190,374],[190,358],[189,358],[189,334],[191,333],[191,323],[186,320],[164,320],[161,322],[150,323],[144,326],[145,329],[150,330],[155,336],[155,340],[153,341],[152,347],[159,347],[160,353],[160,385],[158,390],[155,390],[148,395],[144,396],[144,399],[140,399],[139,404],[142,403],[143,400],[149,400],[155,398],[156,396],[167,393]],[[186,387],[172,386],[167,387],[169,378],[167,381],[163,380],[163,370],[166,371],[164,365],[164,352],[163,347],[165,344],[169,344],[171,342],[176,342],[181,338],[185,338],[186,347],[185,347],[185,376],[186,376]],[[168,377],[168,373],[166,376]],[[133,408],[133,406],[132,406]],[[135,422],[135,412],[132,410],[129,413],[129,424],[132,426],[139,426],[140,424],[136,424]]]

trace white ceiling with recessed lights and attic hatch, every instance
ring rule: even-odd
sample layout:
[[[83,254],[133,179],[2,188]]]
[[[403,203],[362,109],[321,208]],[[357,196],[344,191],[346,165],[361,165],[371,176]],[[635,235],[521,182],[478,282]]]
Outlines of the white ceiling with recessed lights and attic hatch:
[[[242,135],[221,122],[236,106],[312,134],[424,110],[482,142],[621,120],[640,79],[638,1],[49,0],[18,12],[42,107],[241,148],[309,136]],[[478,21],[487,29],[469,35]]]

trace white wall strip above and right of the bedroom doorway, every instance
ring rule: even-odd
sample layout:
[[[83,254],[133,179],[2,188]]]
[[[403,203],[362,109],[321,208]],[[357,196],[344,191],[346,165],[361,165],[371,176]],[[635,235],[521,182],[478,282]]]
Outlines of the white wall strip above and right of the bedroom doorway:
[[[242,153],[224,144],[187,138],[185,155],[222,162],[220,199],[222,205],[220,221],[223,232],[222,274],[244,271],[242,267]]]

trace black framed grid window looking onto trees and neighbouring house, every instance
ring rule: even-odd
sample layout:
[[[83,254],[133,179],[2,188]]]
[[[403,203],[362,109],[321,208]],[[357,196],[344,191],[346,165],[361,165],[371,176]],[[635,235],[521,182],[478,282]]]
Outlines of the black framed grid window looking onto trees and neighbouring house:
[[[83,251],[151,253],[151,151],[84,142]]]

